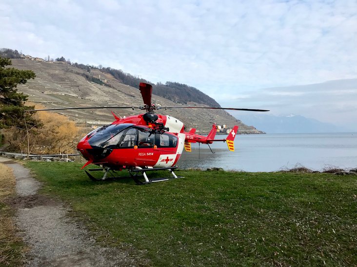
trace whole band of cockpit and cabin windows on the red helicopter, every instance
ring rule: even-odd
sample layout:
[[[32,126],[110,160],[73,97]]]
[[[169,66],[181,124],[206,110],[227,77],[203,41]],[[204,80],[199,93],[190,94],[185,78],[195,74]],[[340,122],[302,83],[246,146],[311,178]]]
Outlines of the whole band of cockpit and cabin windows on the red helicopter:
[[[178,138],[168,133],[155,133],[133,124],[105,125],[87,135],[93,148],[176,147]]]

